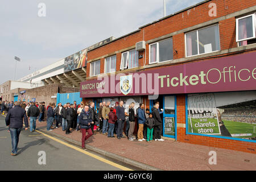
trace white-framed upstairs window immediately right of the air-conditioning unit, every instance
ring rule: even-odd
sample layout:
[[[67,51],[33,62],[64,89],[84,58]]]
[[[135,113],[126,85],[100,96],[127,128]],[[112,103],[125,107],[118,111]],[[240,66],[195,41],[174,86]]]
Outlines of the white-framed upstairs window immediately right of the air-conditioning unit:
[[[150,64],[174,59],[172,38],[150,44]]]

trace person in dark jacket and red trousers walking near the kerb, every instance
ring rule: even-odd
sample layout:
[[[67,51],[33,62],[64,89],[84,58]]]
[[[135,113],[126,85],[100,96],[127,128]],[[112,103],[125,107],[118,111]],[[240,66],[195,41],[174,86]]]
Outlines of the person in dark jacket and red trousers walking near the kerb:
[[[82,149],[85,148],[85,141],[93,135],[92,129],[90,129],[90,125],[93,125],[92,118],[90,117],[89,106],[85,106],[79,116],[79,123],[82,131]],[[86,135],[86,132],[88,135]]]

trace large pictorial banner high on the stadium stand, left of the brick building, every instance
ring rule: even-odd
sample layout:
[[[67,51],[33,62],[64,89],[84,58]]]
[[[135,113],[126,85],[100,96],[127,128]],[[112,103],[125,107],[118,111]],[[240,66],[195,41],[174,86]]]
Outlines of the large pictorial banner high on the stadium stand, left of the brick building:
[[[78,68],[85,67],[87,59],[87,49],[74,53],[71,56],[65,57],[64,72],[69,72]]]

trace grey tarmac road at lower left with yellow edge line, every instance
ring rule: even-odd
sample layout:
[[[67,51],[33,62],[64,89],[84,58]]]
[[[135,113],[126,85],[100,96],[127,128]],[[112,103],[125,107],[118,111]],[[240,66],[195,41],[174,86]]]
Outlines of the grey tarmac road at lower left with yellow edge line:
[[[81,151],[81,147],[68,147],[67,142],[57,142],[38,132],[30,133],[23,130],[20,133],[18,155],[11,156],[11,136],[7,132],[5,117],[0,116],[0,170],[75,170],[75,171],[119,171],[135,169],[127,164],[117,164],[102,156],[92,157]],[[78,149],[76,149],[78,148]],[[46,164],[39,164],[42,154],[46,154]],[[90,151],[89,151],[90,152]],[[95,154],[94,154],[95,155]],[[40,160],[39,160],[40,158]],[[102,160],[104,162],[102,162]]]

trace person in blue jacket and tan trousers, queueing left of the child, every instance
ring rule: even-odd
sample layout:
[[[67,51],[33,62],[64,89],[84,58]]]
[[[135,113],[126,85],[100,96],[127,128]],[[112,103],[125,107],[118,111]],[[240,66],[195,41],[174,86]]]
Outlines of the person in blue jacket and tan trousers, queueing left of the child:
[[[144,104],[143,103],[139,104],[137,118],[138,118],[138,123],[139,123],[138,141],[142,142],[143,140],[145,140],[143,138],[143,127],[144,127],[144,123],[146,122],[146,115],[145,115],[145,110],[144,110]]]

